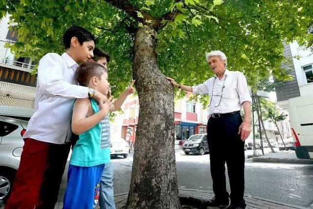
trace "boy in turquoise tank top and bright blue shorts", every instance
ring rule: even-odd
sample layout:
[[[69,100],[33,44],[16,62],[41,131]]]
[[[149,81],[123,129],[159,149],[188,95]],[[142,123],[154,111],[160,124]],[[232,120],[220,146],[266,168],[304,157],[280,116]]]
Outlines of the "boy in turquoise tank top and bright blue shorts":
[[[83,63],[76,70],[75,78],[81,86],[104,95],[110,90],[108,70],[100,64]],[[98,202],[100,177],[105,163],[110,161],[110,135],[107,131],[113,102],[98,104],[92,98],[81,98],[74,103],[72,131],[79,135],[79,139],[69,161],[64,209],[92,209]]]

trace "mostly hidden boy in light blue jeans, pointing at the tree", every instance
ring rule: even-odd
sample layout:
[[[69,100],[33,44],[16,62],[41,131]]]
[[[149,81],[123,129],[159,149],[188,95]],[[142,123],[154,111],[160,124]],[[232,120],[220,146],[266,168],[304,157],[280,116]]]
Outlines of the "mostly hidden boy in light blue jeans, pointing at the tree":
[[[92,60],[107,68],[107,63],[110,62],[110,54],[102,51],[101,49],[95,48],[93,50]],[[133,87],[134,81],[128,86],[128,88],[115,100],[112,111],[118,110],[126,97],[134,93]],[[111,89],[109,94],[111,95]],[[110,134],[110,129],[108,130]],[[105,163],[103,173],[101,175],[101,186],[100,186],[100,198],[99,205],[100,209],[115,209],[114,196],[113,196],[113,170],[111,162]]]

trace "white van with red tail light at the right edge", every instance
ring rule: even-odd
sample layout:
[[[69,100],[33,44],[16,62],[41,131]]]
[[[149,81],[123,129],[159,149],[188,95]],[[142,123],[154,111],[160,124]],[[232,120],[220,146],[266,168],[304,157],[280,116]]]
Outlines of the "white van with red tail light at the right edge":
[[[291,98],[288,103],[297,158],[313,159],[313,94]]]

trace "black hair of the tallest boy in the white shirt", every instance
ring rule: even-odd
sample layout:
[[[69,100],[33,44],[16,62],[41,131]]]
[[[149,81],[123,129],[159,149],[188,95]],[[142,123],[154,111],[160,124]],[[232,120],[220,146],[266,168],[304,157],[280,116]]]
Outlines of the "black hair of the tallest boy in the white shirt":
[[[87,41],[93,41],[96,43],[94,36],[87,29],[80,26],[71,26],[63,35],[63,44],[66,49],[70,47],[70,40],[73,37],[77,38],[81,46]]]

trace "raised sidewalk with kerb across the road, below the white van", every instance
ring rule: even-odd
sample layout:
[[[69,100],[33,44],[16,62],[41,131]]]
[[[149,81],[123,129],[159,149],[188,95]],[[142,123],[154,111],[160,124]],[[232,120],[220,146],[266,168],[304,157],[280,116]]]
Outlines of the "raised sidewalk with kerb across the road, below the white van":
[[[252,162],[313,164],[313,160],[298,159],[293,150],[283,150],[275,153],[267,153],[264,156],[253,157]]]

